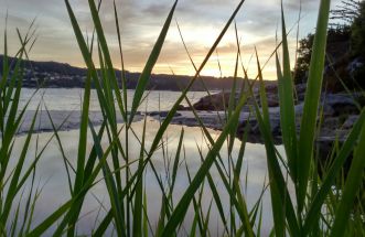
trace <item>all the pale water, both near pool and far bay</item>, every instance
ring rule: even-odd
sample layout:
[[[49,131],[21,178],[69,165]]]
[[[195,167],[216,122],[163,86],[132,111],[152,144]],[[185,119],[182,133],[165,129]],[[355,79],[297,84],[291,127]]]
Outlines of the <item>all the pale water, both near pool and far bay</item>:
[[[24,89],[22,94],[22,103],[25,103],[30,95],[33,93],[33,89]],[[46,106],[50,110],[71,110],[71,109],[79,109],[80,107],[80,98],[82,98],[82,89],[45,89],[41,91],[44,93],[43,100],[46,103]],[[132,100],[132,90],[129,90],[129,101]],[[35,109],[36,105],[41,100],[41,94],[37,94],[32,103],[30,104],[29,109]],[[155,111],[155,110],[169,110],[174,100],[179,97],[180,93],[175,91],[151,91],[146,100],[147,110]],[[190,93],[189,97],[192,101],[197,101],[202,96],[205,96],[205,93]],[[160,98],[160,103],[159,103]],[[146,107],[146,106],[144,106]],[[143,108],[143,106],[141,106]],[[96,99],[96,93],[93,91],[93,98],[90,104],[92,110],[98,110],[98,104]],[[151,144],[154,134],[159,128],[159,121],[153,119],[152,117],[147,118],[147,148]],[[121,125],[120,125],[121,126]],[[141,137],[143,128],[143,121],[137,121],[132,123],[132,129],[135,130],[138,137]],[[180,169],[178,171],[176,184],[173,197],[175,203],[178,203],[179,198],[182,196],[185,188],[189,186],[189,179],[185,170],[185,164],[193,176],[200,168],[201,157],[198,153],[198,148],[202,150],[203,154],[206,154],[208,151],[208,146],[206,144],[205,138],[202,133],[201,128],[198,127],[185,127],[185,126],[176,126],[171,125],[165,132],[164,141],[164,152],[162,149],[158,150],[152,157],[153,165],[157,169],[158,174],[161,180],[165,183],[168,182],[169,175],[168,171],[171,170],[173,161],[171,159],[174,158],[180,131],[184,128],[185,136],[183,140],[184,155],[183,160],[185,162],[180,163]],[[213,138],[217,138],[219,136],[219,131],[208,130]],[[34,134],[34,138],[31,143],[31,148],[28,152],[26,162],[28,164],[34,160],[36,153],[45,146],[45,143],[52,138],[53,132],[41,132]],[[76,166],[76,158],[77,158],[77,143],[78,143],[78,130],[68,130],[61,131],[60,138],[62,141],[62,147],[64,149],[65,155],[67,160]],[[120,134],[121,142],[124,143],[124,134]],[[19,136],[15,139],[14,148],[21,148],[24,142],[25,137]],[[90,151],[93,146],[93,138],[90,132],[88,132],[88,152]],[[240,141],[238,139],[235,140],[234,149],[233,149],[233,158],[238,154]],[[103,141],[103,147],[107,147],[107,142]],[[283,154],[283,148],[277,147],[278,151]],[[133,134],[129,134],[129,158],[130,160],[137,160],[140,153],[140,143],[136,139]],[[20,155],[21,150],[14,149],[13,157],[17,158]],[[164,153],[164,155],[163,155]],[[227,158],[227,144],[225,144],[221,151],[222,159],[225,163],[225,166],[228,168],[228,158]],[[14,160],[13,160],[14,161]],[[170,161],[170,162],[169,162]],[[136,169],[133,164],[131,169]],[[228,215],[229,208],[229,198],[225,191],[225,187],[219,179],[219,174],[214,165],[211,169],[211,174],[216,184],[217,191],[219,193],[221,198],[223,200],[224,211],[226,216]],[[72,174],[72,177],[74,175]],[[245,194],[246,202],[248,207],[253,207],[257,200],[259,198],[261,191],[265,185],[268,183],[268,174],[267,174],[267,164],[266,164],[266,152],[265,147],[262,144],[246,144],[245,158],[244,158],[244,166],[241,171],[240,184],[243,193]],[[100,176],[101,179],[101,176]],[[150,166],[146,170],[144,175],[146,182],[146,191],[148,198],[148,215],[150,217],[150,223],[152,228],[157,226],[159,219],[159,213],[161,207],[161,190],[158,185],[157,177],[152,172]],[[64,160],[62,158],[60,144],[55,139],[52,139],[50,144],[46,147],[42,158],[36,168],[35,175],[35,184],[39,187],[42,187],[41,195],[37,200],[37,205],[34,212],[34,225],[42,222],[46,216],[49,216],[52,211],[60,207],[64,202],[69,198],[69,191],[67,185],[67,175],[64,165]],[[203,209],[207,211],[213,198],[208,185],[205,184],[204,190],[204,202],[202,204]],[[29,186],[28,186],[29,188]],[[101,205],[103,204],[103,205]],[[83,206],[83,212],[80,215],[80,219],[77,226],[78,234],[90,235],[93,227],[97,226],[100,217],[105,216],[106,209],[109,206],[109,198],[107,194],[107,190],[104,181],[99,182],[96,186],[92,188],[92,191],[87,194],[85,200],[85,204]],[[264,198],[262,198],[262,235],[267,236],[270,233],[272,227],[272,217],[271,217],[271,207],[270,207],[270,196],[269,191],[267,190]],[[106,209],[105,209],[106,208]],[[213,203],[211,211],[211,222],[210,222],[210,230],[213,236],[221,236],[223,234],[223,226],[221,223],[219,215],[216,206]],[[184,226],[186,226],[186,231],[189,231],[189,226],[194,217],[193,208],[190,208],[186,218],[184,222]],[[20,220],[21,222],[21,220]],[[111,228],[108,230],[108,234],[111,234]],[[46,233],[46,235],[51,235],[52,229]],[[181,235],[184,236],[184,228],[182,228]]]

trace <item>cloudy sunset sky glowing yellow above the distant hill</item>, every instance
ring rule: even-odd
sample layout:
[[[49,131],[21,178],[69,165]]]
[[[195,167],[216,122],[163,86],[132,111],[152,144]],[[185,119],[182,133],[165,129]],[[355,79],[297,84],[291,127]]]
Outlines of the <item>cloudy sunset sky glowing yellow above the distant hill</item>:
[[[213,42],[225,25],[238,0],[180,0],[174,14],[179,22],[186,45],[196,65],[203,61]],[[287,26],[291,28],[299,12],[299,0],[283,2]],[[332,6],[340,0],[332,1]],[[76,17],[84,32],[90,33],[93,24],[86,0],[71,0]],[[8,34],[10,53],[19,47],[15,29],[25,32],[30,22],[36,18],[37,42],[30,54],[34,61],[56,61],[75,66],[84,66],[73,29],[62,0],[0,0],[0,30],[3,32],[8,10]],[[140,72],[160,33],[165,18],[173,4],[173,0],[117,0],[121,23],[121,40],[125,53],[126,68]],[[302,0],[302,21],[300,22],[300,37],[313,32],[318,17],[320,1]],[[100,12],[107,40],[114,57],[115,67],[120,68],[117,34],[112,11],[112,1],[104,0]],[[256,45],[260,62],[267,60],[275,49],[276,30],[280,28],[279,0],[246,0],[237,18],[244,64],[249,64],[249,75],[256,75],[256,62],[250,61]],[[280,33],[280,32],[279,32]],[[3,44],[3,34],[0,36]],[[296,31],[289,35],[290,49],[296,49]],[[3,46],[0,50],[3,52]],[[223,76],[234,74],[235,31],[232,26],[206,65],[203,75],[219,76],[218,60]],[[292,57],[294,54],[291,54]],[[293,58],[292,58],[293,60]],[[172,22],[160,60],[153,73],[192,75],[194,68],[190,64],[183,49],[175,21]],[[275,65],[270,63],[265,69],[266,79],[275,79]]]

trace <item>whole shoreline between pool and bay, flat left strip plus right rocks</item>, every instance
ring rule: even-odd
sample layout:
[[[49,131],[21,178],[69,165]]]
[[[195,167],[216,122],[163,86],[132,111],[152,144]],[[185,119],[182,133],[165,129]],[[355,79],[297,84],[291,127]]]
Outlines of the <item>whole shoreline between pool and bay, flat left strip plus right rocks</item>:
[[[299,132],[300,120],[303,111],[303,98],[305,86],[297,85],[297,101],[296,101],[296,116],[297,116],[297,130]],[[280,107],[278,103],[277,88],[272,85],[267,86],[269,116],[271,125],[271,133],[277,144],[281,144],[281,128],[280,128]],[[257,94],[256,94],[257,96]],[[197,116],[202,122],[211,129],[222,130],[225,121],[225,111],[227,107],[229,94],[218,93],[212,96],[201,98],[193,105],[197,111]],[[243,108],[239,117],[239,127],[237,129],[237,138],[241,139],[244,128],[249,123],[248,142],[262,143],[262,138],[259,131],[258,121],[255,114],[250,112],[251,100]],[[333,141],[337,140],[340,143],[346,139],[350,130],[358,118],[359,109],[364,106],[364,98],[361,95],[346,95],[346,94],[324,94],[321,97],[321,105],[323,106],[322,126],[318,136],[316,142],[321,148],[321,157],[329,154],[332,149]],[[147,116],[163,120],[169,111],[150,111]],[[79,127],[80,111],[50,111],[55,127],[62,125],[61,130],[72,130]],[[29,131],[34,111],[26,111],[24,115],[23,123],[19,133]],[[139,112],[135,121],[143,118],[143,114]],[[66,119],[67,118],[67,119]],[[100,111],[90,111],[89,118],[93,125],[98,126],[103,122],[103,115]],[[117,117],[117,122],[124,122],[121,116]],[[173,125],[182,125],[189,127],[198,127],[193,111],[190,108],[181,106],[172,119]],[[52,123],[49,119],[46,111],[42,111],[37,116],[35,123],[35,131],[53,131]]]

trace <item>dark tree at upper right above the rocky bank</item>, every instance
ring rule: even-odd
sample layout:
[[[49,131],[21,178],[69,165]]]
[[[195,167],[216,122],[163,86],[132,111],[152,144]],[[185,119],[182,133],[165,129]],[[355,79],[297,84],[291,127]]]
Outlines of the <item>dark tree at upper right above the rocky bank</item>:
[[[332,19],[342,20],[328,32],[324,83],[329,90],[365,88],[365,1],[346,0],[332,11]],[[296,83],[307,80],[312,54],[313,34],[300,41],[294,68]],[[341,78],[341,80],[340,80]]]

